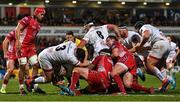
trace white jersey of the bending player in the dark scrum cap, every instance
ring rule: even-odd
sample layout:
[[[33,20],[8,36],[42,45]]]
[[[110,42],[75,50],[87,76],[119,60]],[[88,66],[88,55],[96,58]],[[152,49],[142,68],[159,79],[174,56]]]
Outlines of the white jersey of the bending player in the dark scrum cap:
[[[150,37],[147,42],[150,43],[151,45],[153,45],[155,42],[159,40],[167,40],[164,36],[162,36],[162,32],[158,28],[150,24],[143,25],[140,28],[139,32],[142,34],[145,30],[149,30],[150,32]]]

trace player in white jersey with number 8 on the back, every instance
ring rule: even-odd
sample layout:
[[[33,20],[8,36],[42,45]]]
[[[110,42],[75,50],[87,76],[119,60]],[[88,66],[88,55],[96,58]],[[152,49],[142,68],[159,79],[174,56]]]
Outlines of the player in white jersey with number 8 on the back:
[[[98,52],[102,49],[109,48],[105,42],[106,38],[109,36],[109,31],[115,32],[116,36],[119,38],[119,29],[116,25],[106,24],[103,26],[95,26],[94,23],[89,23],[84,26],[86,34],[78,45],[79,48],[85,46],[85,44],[90,43],[94,47],[94,57],[98,55]]]

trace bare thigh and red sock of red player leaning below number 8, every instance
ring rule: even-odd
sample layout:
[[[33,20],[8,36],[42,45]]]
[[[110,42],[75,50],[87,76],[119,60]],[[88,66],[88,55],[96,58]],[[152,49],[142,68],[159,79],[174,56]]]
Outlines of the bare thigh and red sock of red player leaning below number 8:
[[[115,81],[115,83],[118,85],[118,88],[122,93],[126,93],[126,90],[124,88],[123,81],[119,75],[127,71],[128,71],[127,66],[120,62],[117,62],[111,71],[111,76]]]

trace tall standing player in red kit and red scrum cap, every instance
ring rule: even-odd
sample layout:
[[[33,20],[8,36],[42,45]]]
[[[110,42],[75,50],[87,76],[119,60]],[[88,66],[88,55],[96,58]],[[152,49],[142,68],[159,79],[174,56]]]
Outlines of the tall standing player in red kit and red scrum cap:
[[[33,76],[36,76],[38,74],[39,64],[36,54],[35,38],[37,33],[40,31],[40,23],[43,20],[44,15],[44,8],[36,8],[33,17],[24,17],[19,21],[15,29],[16,49],[20,64],[20,89],[24,89],[24,69],[27,62],[29,62],[33,66]],[[35,85],[35,87],[37,87],[37,84]]]

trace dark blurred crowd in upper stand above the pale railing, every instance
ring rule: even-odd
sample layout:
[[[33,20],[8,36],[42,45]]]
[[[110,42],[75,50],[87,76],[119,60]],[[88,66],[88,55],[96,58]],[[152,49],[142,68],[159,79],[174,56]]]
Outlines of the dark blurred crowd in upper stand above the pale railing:
[[[12,26],[16,25],[19,18],[4,17],[0,19],[0,25]],[[27,15],[25,15],[27,16]],[[136,21],[143,20],[145,23],[156,26],[179,26],[180,17],[174,18],[171,15],[167,17],[163,15],[162,11],[148,11],[131,14],[130,10],[107,10],[107,9],[47,9],[47,13],[43,22],[44,26],[83,26],[86,22],[98,20],[102,24],[112,23],[116,25],[127,24],[133,26]]]

